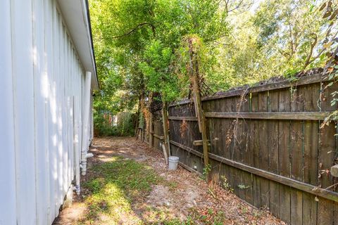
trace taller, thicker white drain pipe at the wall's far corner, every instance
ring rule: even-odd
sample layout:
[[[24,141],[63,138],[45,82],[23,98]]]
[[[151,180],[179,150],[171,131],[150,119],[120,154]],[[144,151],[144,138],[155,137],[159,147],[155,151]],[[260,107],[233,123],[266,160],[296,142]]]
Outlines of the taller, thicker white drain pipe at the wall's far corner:
[[[81,174],[87,172],[87,151],[89,147],[89,108],[90,108],[90,84],[92,81],[92,72],[86,72],[84,81],[84,108],[83,108],[83,127],[82,127],[82,148],[81,148]]]

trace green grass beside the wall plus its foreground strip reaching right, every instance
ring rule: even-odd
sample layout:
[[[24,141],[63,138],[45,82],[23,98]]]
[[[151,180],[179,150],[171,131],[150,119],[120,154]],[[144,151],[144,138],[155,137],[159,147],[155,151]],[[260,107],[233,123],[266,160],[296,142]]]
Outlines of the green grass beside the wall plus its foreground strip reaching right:
[[[149,205],[135,213],[132,204],[142,203],[156,184],[168,186],[170,190],[178,185],[175,181],[165,181],[149,165],[123,157],[94,165],[91,176],[82,184],[89,191],[84,198],[87,212],[77,224],[223,224],[223,212],[210,209],[201,212],[192,208],[184,221],[175,218],[165,207]]]

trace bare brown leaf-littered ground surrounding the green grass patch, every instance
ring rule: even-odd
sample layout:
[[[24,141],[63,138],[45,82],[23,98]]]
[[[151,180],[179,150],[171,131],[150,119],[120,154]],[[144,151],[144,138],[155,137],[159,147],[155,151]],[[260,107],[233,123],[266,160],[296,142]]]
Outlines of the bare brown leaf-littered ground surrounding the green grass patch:
[[[156,184],[151,187],[149,195],[132,202],[132,214],[123,217],[118,224],[134,224],[137,217],[143,224],[162,224],[151,220],[151,213],[164,212],[165,218],[176,218],[187,221],[189,218],[200,218],[195,224],[215,224],[213,217],[221,217],[222,224],[284,224],[265,210],[257,210],[244,203],[234,193],[224,190],[215,184],[207,184],[198,175],[179,167],[170,172],[165,167],[160,151],[150,149],[146,143],[135,141],[134,138],[105,137],[94,140],[94,158],[89,159],[88,173],[82,182],[94,176],[92,167],[109,160],[116,155],[126,159],[143,162],[154,168],[167,184]],[[90,193],[82,188],[82,195],[75,197],[71,207],[65,208],[54,221],[54,225],[77,224],[88,212],[84,199]],[[149,210],[151,209],[151,210]],[[150,219],[149,219],[150,218]],[[202,219],[201,219],[202,218]],[[89,224],[113,224],[109,220]],[[189,223],[187,223],[189,224]]]

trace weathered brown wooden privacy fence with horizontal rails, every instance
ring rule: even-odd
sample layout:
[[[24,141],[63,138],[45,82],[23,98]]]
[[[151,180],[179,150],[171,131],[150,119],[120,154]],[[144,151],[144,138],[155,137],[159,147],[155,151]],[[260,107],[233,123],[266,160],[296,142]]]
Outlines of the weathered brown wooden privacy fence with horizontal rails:
[[[288,224],[338,224],[338,193],[327,188],[337,182],[329,172],[337,159],[337,128],[331,122],[320,129],[337,110],[330,93],[338,85],[326,86],[318,74],[202,98],[212,181]],[[168,113],[172,155],[203,173],[194,103],[173,103]],[[157,148],[161,134],[162,123],[155,122]]]

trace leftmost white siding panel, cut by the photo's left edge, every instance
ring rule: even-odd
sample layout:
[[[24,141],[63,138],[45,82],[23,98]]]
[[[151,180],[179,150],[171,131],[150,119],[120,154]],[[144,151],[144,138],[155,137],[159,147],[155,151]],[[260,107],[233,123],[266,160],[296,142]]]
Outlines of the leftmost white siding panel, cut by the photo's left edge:
[[[10,0],[0,1],[0,224],[16,224]]]

